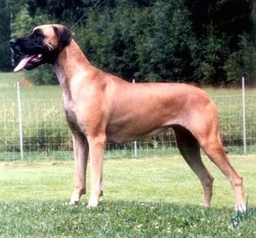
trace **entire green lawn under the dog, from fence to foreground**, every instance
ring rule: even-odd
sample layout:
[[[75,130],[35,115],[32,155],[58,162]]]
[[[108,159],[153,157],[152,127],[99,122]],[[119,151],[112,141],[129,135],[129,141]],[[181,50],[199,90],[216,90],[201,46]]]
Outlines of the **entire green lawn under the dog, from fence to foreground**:
[[[88,195],[78,206],[66,205],[73,161],[2,162],[0,237],[255,237],[255,162],[231,156],[251,209],[237,228],[231,186],[208,160],[215,176],[212,208],[202,207],[199,180],[181,156],[172,156],[106,160],[104,197],[91,210]]]

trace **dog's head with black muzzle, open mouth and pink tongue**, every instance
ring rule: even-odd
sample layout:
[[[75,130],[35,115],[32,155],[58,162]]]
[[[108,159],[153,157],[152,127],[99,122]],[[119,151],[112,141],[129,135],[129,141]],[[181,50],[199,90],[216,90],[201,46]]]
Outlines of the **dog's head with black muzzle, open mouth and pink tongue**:
[[[73,32],[62,25],[40,25],[30,35],[10,41],[12,51],[23,59],[15,67],[34,69],[41,64],[54,64],[60,51],[70,44]]]

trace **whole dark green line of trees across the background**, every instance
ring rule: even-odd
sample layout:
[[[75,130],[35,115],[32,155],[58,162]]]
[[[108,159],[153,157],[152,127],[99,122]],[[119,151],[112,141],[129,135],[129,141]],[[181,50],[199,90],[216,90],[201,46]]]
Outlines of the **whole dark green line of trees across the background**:
[[[102,0],[94,9],[95,0],[5,2],[13,14],[12,35],[65,24],[92,64],[126,80],[226,86],[245,76],[255,83],[252,0]],[[48,67],[28,77],[56,83]]]

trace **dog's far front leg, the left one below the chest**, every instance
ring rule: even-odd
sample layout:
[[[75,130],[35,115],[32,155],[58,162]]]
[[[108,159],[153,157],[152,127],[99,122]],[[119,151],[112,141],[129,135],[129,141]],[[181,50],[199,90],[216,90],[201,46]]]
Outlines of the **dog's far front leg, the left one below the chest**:
[[[75,157],[75,189],[70,199],[70,205],[77,204],[81,195],[86,193],[88,142],[84,135],[73,133],[73,149]]]

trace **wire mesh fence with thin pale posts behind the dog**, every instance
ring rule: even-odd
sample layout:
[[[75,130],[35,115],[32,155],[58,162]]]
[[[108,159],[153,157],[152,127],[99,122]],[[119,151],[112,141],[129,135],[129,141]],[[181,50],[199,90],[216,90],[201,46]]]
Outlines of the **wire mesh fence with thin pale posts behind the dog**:
[[[220,113],[220,135],[230,153],[256,153],[256,96],[212,97]],[[1,100],[0,161],[72,159],[73,143],[61,99]],[[243,122],[245,119],[245,123]],[[245,131],[243,128],[245,124]],[[244,134],[245,137],[244,137]],[[172,129],[136,143],[107,144],[105,158],[162,156],[177,153]]]

